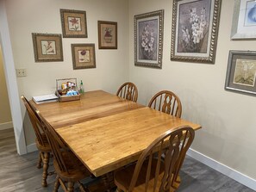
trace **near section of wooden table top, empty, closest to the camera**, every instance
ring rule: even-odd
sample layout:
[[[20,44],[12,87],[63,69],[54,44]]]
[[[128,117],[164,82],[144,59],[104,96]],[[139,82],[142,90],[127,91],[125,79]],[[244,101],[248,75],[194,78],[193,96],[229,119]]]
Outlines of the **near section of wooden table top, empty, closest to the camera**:
[[[200,125],[152,108],[137,108],[56,129],[96,177],[134,162],[161,133],[174,127]]]

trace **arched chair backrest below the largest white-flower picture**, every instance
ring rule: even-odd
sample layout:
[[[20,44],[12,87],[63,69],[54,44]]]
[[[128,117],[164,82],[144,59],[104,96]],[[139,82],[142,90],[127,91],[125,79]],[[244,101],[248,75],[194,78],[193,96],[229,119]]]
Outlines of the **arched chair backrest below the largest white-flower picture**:
[[[148,107],[179,118],[182,113],[182,106],[178,96],[169,90],[162,90],[154,95],[148,103]]]

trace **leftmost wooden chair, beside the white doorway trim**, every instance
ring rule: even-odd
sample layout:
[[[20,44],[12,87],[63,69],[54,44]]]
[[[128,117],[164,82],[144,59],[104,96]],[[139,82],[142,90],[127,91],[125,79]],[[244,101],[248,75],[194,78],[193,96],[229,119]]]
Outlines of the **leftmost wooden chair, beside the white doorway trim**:
[[[43,131],[43,124],[41,123],[39,117],[35,113],[34,109],[29,104],[27,98],[22,96],[22,101],[27,108],[28,117],[31,121],[32,127],[35,133],[35,144],[39,151],[39,157],[37,162],[37,168],[41,169],[41,164],[43,164],[43,174],[41,185],[47,187],[47,177],[53,175],[53,172],[48,172],[50,152],[52,152],[51,147],[47,141],[47,136]]]

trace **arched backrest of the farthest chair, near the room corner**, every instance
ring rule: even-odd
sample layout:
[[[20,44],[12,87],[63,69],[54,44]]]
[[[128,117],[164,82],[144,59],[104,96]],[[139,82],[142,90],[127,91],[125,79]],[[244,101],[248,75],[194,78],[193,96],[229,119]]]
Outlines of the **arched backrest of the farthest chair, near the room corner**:
[[[137,102],[138,89],[135,84],[127,82],[122,84],[119,90],[117,90],[116,96],[120,96],[132,102]]]

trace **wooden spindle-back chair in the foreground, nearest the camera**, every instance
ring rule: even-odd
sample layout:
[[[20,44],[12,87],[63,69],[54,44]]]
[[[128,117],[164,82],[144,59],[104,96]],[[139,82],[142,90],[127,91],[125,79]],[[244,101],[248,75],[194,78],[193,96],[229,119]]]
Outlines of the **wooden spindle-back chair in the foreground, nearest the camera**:
[[[178,172],[194,136],[194,130],[188,126],[177,127],[160,135],[142,152],[136,164],[116,170],[116,191],[176,191],[180,182]]]

